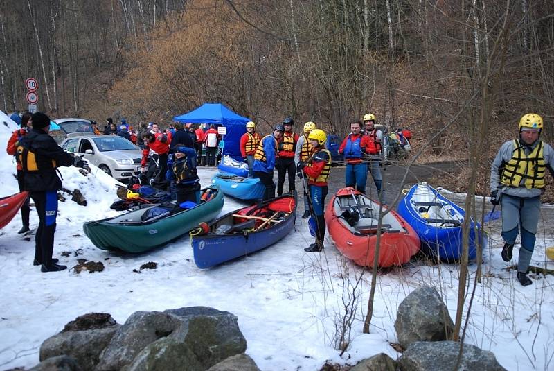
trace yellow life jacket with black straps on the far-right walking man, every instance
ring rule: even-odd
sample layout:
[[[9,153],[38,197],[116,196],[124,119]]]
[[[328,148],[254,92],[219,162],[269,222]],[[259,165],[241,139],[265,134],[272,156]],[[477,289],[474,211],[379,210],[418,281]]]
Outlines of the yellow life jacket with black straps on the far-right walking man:
[[[544,155],[542,141],[529,153],[525,154],[524,147],[519,141],[514,141],[512,158],[504,165],[500,182],[510,187],[520,187],[521,180],[526,188],[544,187]]]

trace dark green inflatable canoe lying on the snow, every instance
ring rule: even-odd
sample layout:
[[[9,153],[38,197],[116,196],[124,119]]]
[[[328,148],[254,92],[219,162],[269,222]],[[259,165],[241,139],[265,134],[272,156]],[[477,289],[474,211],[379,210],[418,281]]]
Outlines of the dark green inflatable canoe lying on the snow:
[[[199,222],[212,221],[220,214],[224,201],[222,191],[217,187],[208,187],[202,190],[202,198],[207,200],[189,209],[177,208],[173,203],[161,204],[142,207],[114,218],[90,221],[83,224],[84,234],[102,250],[146,252],[177,239]],[[165,205],[168,205],[166,211],[161,210]]]

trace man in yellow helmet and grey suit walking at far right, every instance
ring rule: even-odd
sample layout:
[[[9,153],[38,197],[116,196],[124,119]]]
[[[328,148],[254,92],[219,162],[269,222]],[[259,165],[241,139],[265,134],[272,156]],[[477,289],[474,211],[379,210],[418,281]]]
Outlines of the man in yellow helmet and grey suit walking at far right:
[[[490,170],[490,201],[502,206],[501,257],[503,261],[512,259],[521,232],[517,279],[523,286],[532,284],[526,273],[535,249],[544,172],[548,169],[554,175],[554,150],[539,139],[542,128],[542,117],[524,114],[519,120],[519,138],[501,146]]]

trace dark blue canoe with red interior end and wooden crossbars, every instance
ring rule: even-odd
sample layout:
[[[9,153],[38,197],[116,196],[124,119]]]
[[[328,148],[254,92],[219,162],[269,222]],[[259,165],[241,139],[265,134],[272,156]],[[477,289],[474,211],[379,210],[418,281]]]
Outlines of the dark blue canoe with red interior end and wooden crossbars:
[[[280,241],[296,220],[296,192],[243,207],[209,223],[204,234],[190,232],[195,264],[210,268]]]

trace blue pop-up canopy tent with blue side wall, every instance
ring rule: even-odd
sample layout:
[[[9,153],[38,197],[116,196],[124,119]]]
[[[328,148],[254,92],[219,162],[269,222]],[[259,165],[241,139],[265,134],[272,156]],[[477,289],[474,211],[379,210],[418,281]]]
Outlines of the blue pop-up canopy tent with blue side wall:
[[[236,114],[221,103],[204,103],[196,110],[175,116],[173,119],[182,123],[213,123],[215,126],[225,126],[223,154],[242,161],[240,137],[247,132],[246,123],[250,119]]]

